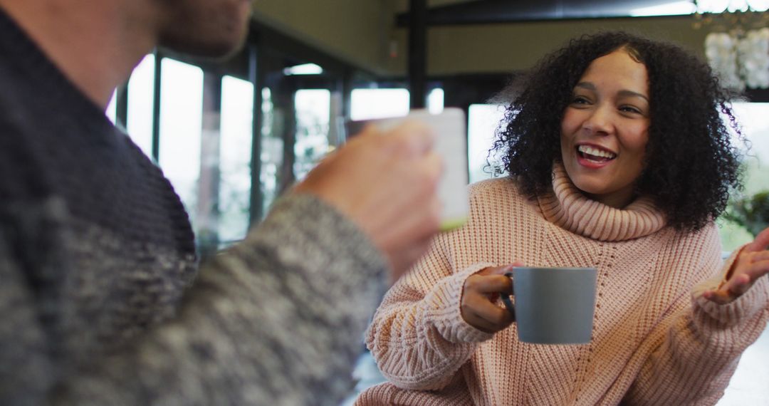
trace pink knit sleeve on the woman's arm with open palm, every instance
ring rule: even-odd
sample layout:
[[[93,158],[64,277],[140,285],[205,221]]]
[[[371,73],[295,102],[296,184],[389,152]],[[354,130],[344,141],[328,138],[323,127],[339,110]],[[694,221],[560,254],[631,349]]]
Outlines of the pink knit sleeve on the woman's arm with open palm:
[[[716,404],[740,355],[767,325],[769,278],[759,279],[730,304],[715,304],[702,297],[704,291],[721,282],[736,255],[726,262],[720,275],[713,276],[721,263],[720,243],[714,228],[705,234],[714,240],[711,245],[715,249],[703,251],[692,271],[711,278],[681,298],[649,336],[648,341],[656,348],[626,394],[624,401],[628,404]]]

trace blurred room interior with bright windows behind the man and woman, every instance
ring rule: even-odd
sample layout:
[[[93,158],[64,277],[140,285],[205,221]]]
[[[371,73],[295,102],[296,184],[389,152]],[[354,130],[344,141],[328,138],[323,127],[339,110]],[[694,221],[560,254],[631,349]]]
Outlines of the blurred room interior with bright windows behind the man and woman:
[[[743,148],[745,189],[717,221],[724,253],[769,225],[769,0],[254,5],[237,55],[205,61],[158,49],[107,111],[171,180],[203,258],[243,238],[282,191],[341,145],[348,119],[462,108],[468,176],[491,177],[488,148],[504,108],[488,100],[568,39],[618,29],[687,48],[743,92],[734,109],[747,144],[738,145],[751,149]],[[365,354],[356,376],[358,389],[381,381]],[[744,354],[721,404],[769,404],[767,383],[769,333]]]

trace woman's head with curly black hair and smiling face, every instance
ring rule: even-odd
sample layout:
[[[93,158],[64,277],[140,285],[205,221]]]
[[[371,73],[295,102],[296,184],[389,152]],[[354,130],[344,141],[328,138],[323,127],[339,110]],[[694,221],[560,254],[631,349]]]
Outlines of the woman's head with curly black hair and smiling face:
[[[526,195],[550,188],[556,160],[588,195],[601,194],[593,190],[599,174],[621,167],[627,175],[608,178],[632,185],[624,181],[614,205],[647,195],[668,225],[696,230],[721,214],[739,186],[739,156],[721,117],[736,122],[731,96],[706,64],[674,45],[624,33],[579,38],[502,92],[509,105],[494,149]],[[571,146],[561,148],[564,142]],[[576,149],[581,142],[618,155],[591,162]],[[614,165],[631,154],[634,165]]]

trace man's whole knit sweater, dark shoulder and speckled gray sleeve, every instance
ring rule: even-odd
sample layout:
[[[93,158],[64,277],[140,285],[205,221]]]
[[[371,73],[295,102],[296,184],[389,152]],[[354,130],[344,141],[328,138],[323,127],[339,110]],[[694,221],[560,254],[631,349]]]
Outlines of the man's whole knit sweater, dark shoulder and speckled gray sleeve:
[[[385,267],[296,195],[198,270],[161,171],[0,12],[0,404],[338,404]]]

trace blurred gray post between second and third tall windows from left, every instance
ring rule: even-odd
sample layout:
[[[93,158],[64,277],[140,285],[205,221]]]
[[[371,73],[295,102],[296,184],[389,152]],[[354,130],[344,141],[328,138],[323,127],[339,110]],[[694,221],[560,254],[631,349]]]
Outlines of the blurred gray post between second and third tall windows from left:
[[[203,120],[200,140],[197,220],[201,259],[218,250],[219,146],[221,144],[221,75],[203,72]]]

